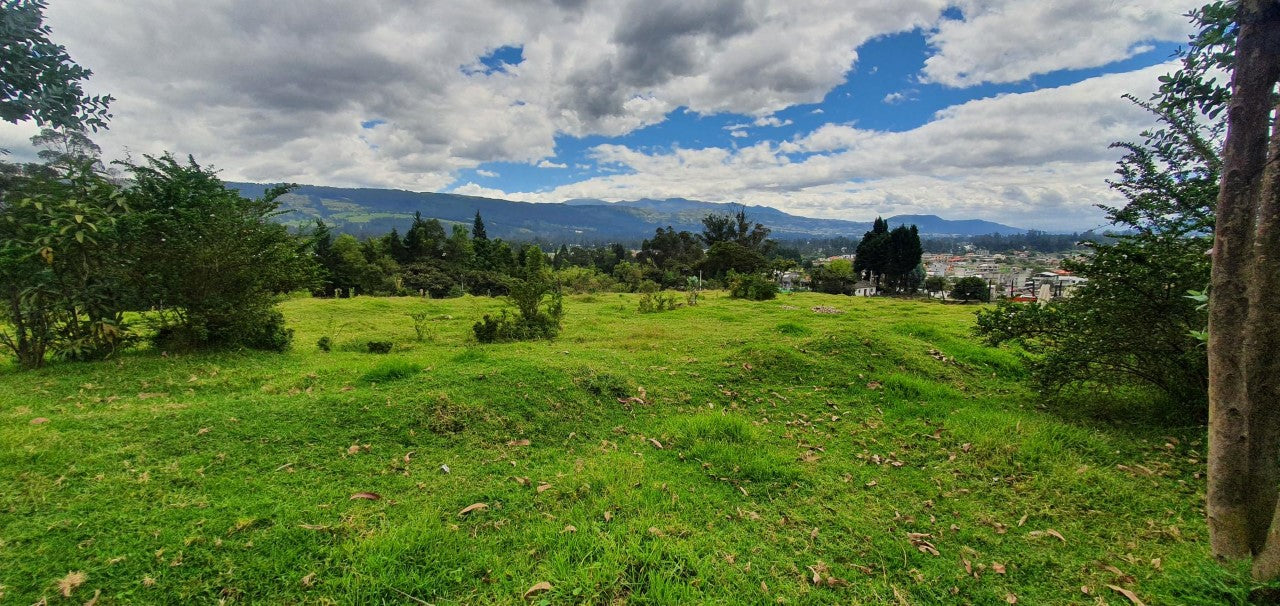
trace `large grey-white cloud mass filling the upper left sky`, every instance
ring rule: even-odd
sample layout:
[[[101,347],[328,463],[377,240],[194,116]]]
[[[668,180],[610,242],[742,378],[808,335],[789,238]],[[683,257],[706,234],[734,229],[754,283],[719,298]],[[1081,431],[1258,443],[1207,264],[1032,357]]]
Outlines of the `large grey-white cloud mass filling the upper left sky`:
[[[79,0],[55,38],[118,97],[109,155],[172,150],[228,178],[438,188],[538,161],[557,135],[820,101],[856,49],[947,0]],[[500,46],[524,61],[466,73]],[[428,59],[424,59],[428,58]],[[361,128],[370,119],[376,128]]]

